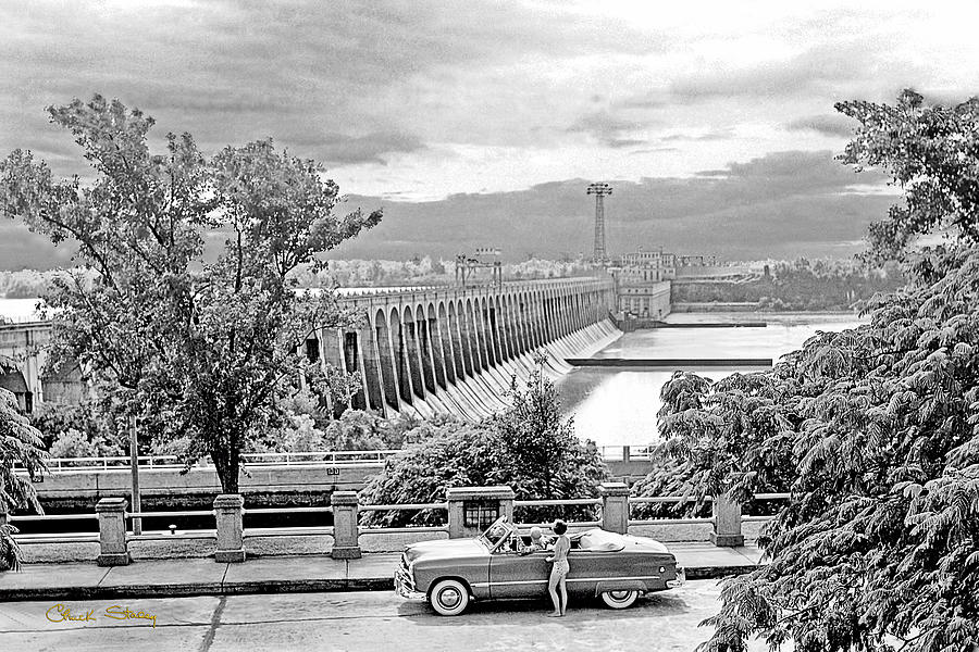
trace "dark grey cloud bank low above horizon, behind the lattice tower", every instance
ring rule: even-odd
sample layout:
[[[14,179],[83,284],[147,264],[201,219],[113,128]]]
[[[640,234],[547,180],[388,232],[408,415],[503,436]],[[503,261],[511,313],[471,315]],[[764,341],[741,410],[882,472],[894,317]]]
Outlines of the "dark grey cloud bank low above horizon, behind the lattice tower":
[[[606,201],[609,249],[662,246],[729,259],[854,253],[860,247],[853,242],[895,198],[845,191],[882,180],[875,172],[855,174],[829,151],[778,152],[690,178],[612,180],[615,193]],[[530,253],[587,255],[594,220],[587,184],[569,179],[419,203],[352,197],[351,204],[383,206],[384,220],[335,254],[448,258],[499,247],[517,260]]]

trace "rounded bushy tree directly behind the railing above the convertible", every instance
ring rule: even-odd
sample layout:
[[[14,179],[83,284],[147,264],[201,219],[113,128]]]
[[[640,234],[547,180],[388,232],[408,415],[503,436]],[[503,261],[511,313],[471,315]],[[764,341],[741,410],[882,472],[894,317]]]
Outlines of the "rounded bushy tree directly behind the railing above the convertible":
[[[448,487],[492,485],[509,485],[518,500],[594,497],[605,464],[594,443],[579,441],[570,419],[561,418],[554,384],[536,369],[524,387],[515,383],[509,398],[507,410],[481,423],[449,421],[425,428],[417,443],[385,461],[361,498],[375,504],[438,502]],[[565,515],[581,513],[570,509]],[[369,522],[386,526],[439,518],[429,510],[369,515]]]

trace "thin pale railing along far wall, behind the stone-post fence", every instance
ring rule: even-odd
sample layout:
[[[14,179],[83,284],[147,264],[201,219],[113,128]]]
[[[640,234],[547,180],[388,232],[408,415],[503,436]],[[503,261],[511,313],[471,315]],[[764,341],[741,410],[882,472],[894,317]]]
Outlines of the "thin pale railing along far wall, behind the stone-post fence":
[[[649,460],[652,447],[604,446],[598,450],[607,462],[645,462]],[[241,453],[246,467],[261,466],[300,466],[300,465],[382,465],[389,456],[400,452],[399,449],[379,449],[368,451],[309,451],[294,453]],[[184,463],[176,455],[139,455],[140,468],[183,468]],[[128,455],[104,455],[96,457],[48,457],[45,460],[48,473],[74,473],[82,471],[128,471]],[[191,466],[212,468],[210,456],[201,457]],[[25,468],[14,464],[14,471]]]

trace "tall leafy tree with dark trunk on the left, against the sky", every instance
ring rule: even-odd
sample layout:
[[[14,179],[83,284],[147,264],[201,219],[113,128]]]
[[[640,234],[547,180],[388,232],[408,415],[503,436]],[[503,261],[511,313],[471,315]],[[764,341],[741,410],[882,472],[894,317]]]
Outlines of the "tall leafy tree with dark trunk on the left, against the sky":
[[[271,139],[211,160],[189,134],[152,153],[151,117],[100,96],[50,108],[95,179],[55,181],[29,152],[0,164],[0,213],[55,243],[83,271],[53,281],[52,364],[77,359],[163,439],[209,454],[236,492],[240,452],[294,390],[308,334],[354,317],[329,291],[295,291],[290,272],[370,228],[380,211],[337,217],[322,168]],[[221,246],[218,239],[224,237]]]

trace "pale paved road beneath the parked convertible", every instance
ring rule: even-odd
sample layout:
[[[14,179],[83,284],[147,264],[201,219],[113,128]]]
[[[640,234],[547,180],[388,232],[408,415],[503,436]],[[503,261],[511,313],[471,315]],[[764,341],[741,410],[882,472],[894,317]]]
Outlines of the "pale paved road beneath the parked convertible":
[[[61,610],[9,602],[0,604],[0,650],[692,651],[708,635],[697,623],[716,612],[718,593],[714,580],[690,581],[623,611],[572,603],[565,618],[544,617],[546,602],[479,603],[446,618],[387,591],[75,601]],[[65,607],[91,619],[61,620]],[[126,609],[147,617],[126,618]]]

